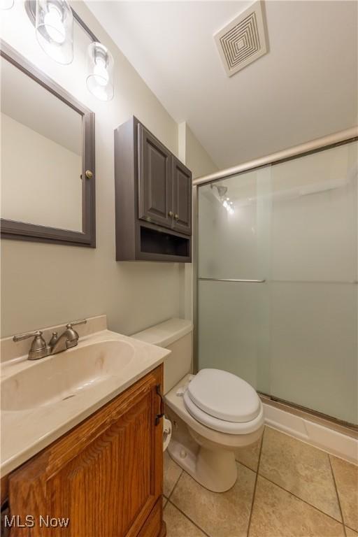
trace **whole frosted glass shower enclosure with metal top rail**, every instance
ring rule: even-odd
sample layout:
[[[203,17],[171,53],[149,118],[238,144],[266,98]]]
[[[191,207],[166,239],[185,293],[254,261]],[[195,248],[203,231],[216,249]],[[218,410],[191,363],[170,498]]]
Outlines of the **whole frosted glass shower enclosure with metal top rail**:
[[[341,138],[194,182],[196,368],[357,426],[358,141]]]

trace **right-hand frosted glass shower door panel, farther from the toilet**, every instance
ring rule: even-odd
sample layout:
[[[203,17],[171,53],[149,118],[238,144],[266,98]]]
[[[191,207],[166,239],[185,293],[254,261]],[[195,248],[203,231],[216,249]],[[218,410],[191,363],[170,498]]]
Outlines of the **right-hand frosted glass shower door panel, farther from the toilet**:
[[[357,142],[272,166],[271,186],[271,394],[357,424]]]

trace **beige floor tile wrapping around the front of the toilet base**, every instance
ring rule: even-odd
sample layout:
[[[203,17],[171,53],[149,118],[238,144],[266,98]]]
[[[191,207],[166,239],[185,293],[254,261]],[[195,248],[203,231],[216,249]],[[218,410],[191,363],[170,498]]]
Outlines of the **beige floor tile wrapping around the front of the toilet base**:
[[[210,492],[183,472],[171,496],[171,501],[210,537],[246,536],[256,475],[241,464],[237,466],[238,480],[227,492]]]

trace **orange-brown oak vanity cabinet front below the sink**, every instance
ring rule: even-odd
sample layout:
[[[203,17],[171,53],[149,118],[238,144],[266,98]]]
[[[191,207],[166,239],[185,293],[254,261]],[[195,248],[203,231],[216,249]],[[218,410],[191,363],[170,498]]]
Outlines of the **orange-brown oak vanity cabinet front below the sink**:
[[[10,474],[10,514],[36,522],[12,528],[11,537],[139,534],[162,494],[159,384],[162,367]],[[69,524],[41,528],[39,515]]]

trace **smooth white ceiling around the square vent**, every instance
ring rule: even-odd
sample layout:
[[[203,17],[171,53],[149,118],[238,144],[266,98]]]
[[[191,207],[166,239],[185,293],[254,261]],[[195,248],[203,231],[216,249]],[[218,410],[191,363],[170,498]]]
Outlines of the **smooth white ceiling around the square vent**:
[[[87,0],[219,169],[357,124],[357,2],[266,1],[268,54],[228,78],[213,35],[251,3]]]

